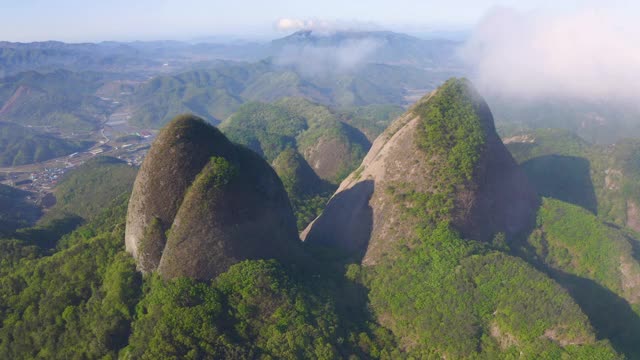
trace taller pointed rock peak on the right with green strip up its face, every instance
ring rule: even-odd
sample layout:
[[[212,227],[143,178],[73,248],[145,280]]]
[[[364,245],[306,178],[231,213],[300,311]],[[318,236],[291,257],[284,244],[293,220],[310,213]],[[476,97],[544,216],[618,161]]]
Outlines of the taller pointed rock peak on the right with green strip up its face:
[[[487,104],[467,80],[452,79],[378,137],[302,237],[375,264],[398,241],[418,237],[428,219],[490,241],[527,230],[537,207]]]

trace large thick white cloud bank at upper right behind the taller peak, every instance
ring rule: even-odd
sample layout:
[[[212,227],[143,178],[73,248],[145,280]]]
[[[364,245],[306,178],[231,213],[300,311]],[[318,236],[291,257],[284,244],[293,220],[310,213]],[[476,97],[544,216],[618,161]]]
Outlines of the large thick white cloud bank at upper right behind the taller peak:
[[[536,98],[640,98],[640,23],[615,9],[496,8],[460,53],[485,92]]]

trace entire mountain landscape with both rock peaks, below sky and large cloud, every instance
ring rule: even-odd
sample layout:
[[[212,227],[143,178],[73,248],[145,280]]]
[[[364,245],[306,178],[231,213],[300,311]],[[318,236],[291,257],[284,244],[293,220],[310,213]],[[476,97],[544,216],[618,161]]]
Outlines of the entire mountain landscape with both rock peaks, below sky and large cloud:
[[[640,358],[637,108],[460,44],[0,43],[0,358]]]

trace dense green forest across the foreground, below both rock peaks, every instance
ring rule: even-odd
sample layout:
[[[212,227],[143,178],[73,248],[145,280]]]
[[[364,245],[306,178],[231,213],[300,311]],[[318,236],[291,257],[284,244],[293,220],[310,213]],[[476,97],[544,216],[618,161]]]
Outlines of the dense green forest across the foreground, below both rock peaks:
[[[565,290],[444,227],[375,273],[246,261],[211,282],[165,281],[124,252],[123,200],[52,253],[0,240],[13,249],[0,263],[2,357],[618,358]]]

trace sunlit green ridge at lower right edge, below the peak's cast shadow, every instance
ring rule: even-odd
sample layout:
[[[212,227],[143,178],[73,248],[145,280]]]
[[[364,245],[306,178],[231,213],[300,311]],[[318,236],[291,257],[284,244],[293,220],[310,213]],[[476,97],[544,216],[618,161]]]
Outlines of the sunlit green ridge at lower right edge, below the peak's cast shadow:
[[[640,356],[640,243],[634,236],[585,209],[545,199],[522,249],[569,291],[598,336],[631,359]]]

